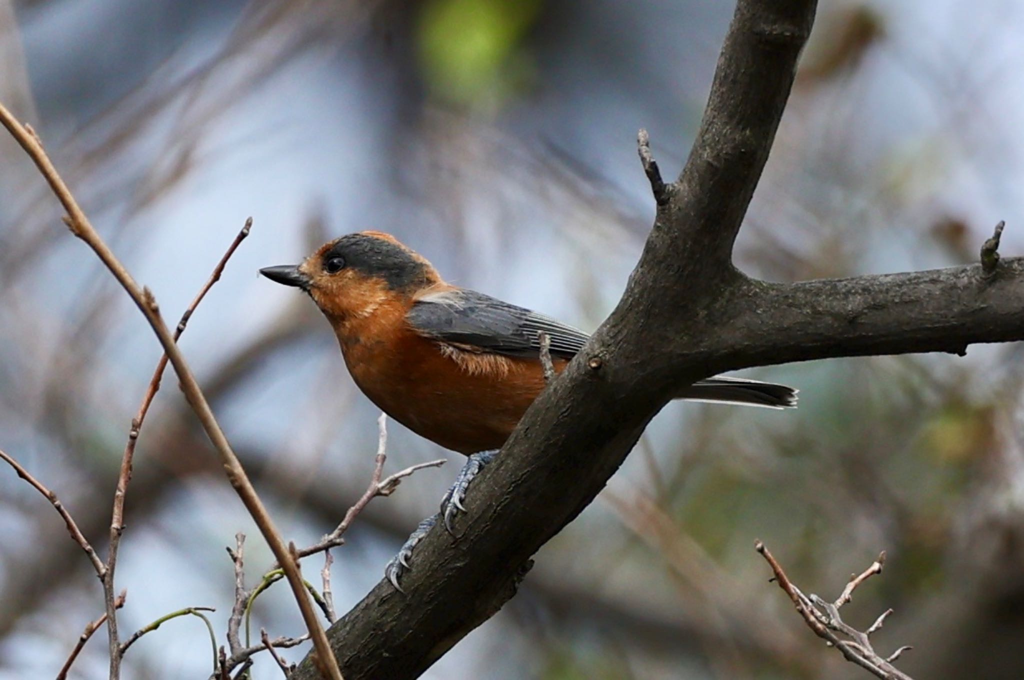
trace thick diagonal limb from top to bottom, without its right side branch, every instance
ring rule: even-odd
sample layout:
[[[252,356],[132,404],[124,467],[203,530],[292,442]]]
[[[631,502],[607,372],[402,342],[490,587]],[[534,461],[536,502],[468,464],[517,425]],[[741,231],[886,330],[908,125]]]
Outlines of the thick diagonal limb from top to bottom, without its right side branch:
[[[417,677],[498,611],[532,554],[594,499],[674,390],[714,372],[680,359],[678,348],[707,342],[744,288],[732,242],[814,9],[813,0],[738,2],[693,151],[622,301],[474,481],[461,536],[431,530],[407,595],[382,582],[331,628],[346,678]],[[294,677],[316,677],[310,660]]]

